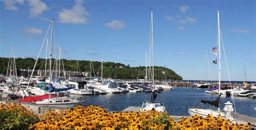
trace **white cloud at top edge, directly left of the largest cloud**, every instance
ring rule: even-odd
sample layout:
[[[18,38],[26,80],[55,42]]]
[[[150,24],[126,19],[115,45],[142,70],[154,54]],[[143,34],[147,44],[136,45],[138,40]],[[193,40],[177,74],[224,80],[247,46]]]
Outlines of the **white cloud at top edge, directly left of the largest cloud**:
[[[44,11],[48,10],[48,7],[45,3],[43,3],[41,0],[30,0],[29,6],[30,6],[30,16],[36,17],[41,15]]]

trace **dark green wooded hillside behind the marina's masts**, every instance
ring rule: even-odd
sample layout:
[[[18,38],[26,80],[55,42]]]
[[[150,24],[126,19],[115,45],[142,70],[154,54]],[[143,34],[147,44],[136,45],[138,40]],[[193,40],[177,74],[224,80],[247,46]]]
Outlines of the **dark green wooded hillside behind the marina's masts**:
[[[16,58],[16,67],[18,75],[21,75],[20,69],[33,69],[36,60],[32,58]],[[48,59],[49,61],[49,59]],[[9,58],[0,57],[0,74],[6,74],[8,67]],[[52,59],[52,64],[54,64],[55,59]],[[90,64],[91,61],[78,61],[80,71],[86,71],[90,73]],[[66,71],[77,71],[77,60],[66,60],[63,59],[64,68]],[[100,67],[101,62],[92,61],[92,68],[95,70],[95,75],[100,76]],[[49,62],[48,62],[49,66]],[[49,67],[48,67],[49,68]],[[61,68],[62,64],[61,64]],[[45,69],[45,59],[38,59],[36,70],[44,70]],[[117,78],[117,79],[143,79],[145,78],[145,67],[130,67],[130,65],[125,66],[122,63],[114,63],[114,62],[103,62],[103,78]],[[154,78],[156,80],[182,80],[182,77],[177,75],[173,70],[165,67],[154,67]],[[163,72],[165,71],[165,73]],[[94,73],[92,71],[92,76],[94,77]]]

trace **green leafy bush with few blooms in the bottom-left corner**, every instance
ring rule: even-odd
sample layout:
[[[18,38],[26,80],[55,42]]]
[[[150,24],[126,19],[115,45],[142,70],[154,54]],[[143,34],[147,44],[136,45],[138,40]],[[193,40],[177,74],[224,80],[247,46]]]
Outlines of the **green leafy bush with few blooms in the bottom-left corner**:
[[[39,121],[35,115],[23,115],[17,110],[0,110],[0,129],[28,129]]]

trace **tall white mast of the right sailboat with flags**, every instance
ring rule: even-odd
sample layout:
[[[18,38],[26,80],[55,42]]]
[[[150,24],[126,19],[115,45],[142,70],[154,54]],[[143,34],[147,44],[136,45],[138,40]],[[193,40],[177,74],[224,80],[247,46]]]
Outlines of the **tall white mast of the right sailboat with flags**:
[[[219,20],[219,11],[218,13],[218,43],[219,43],[219,98],[220,98],[220,76],[221,76],[221,56],[220,56],[220,20]],[[220,112],[220,104],[218,107],[218,112]]]

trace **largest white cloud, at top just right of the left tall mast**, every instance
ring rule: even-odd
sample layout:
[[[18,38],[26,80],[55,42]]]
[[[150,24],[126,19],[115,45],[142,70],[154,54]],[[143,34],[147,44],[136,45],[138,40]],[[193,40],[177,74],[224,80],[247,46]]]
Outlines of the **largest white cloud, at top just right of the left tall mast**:
[[[86,24],[86,16],[89,15],[89,13],[82,4],[83,0],[76,0],[72,9],[62,9],[62,11],[59,12],[60,23]]]

